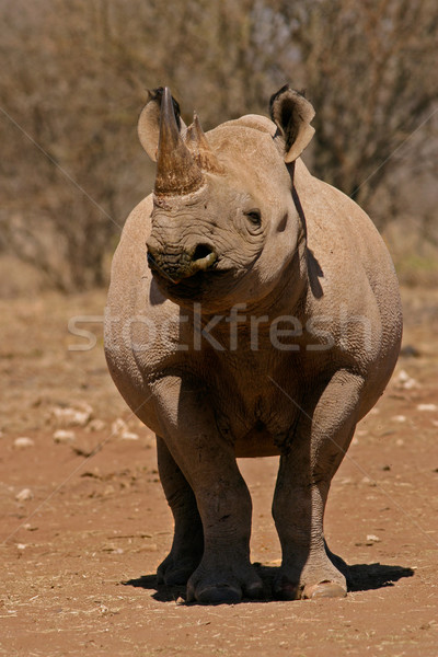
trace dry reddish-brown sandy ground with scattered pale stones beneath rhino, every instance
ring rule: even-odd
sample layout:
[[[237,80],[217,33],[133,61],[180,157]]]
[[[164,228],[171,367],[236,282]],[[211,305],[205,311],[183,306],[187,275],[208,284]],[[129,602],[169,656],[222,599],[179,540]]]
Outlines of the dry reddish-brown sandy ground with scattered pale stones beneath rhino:
[[[348,597],[273,600],[276,459],[256,459],[241,468],[266,601],[208,608],[155,583],[172,518],[152,436],[106,372],[104,293],[0,300],[0,655],[436,657],[438,299],[406,290],[404,304],[417,354],[358,427],[326,514]],[[84,314],[96,345],[71,350],[84,338],[68,320]],[[62,427],[73,436],[56,441]]]

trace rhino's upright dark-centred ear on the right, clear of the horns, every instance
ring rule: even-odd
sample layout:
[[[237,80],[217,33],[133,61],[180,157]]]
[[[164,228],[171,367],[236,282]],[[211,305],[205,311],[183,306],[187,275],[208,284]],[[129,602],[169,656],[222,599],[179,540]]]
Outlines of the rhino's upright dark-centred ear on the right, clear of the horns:
[[[314,135],[310,125],[315,114],[313,106],[286,84],[270,97],[269,113],[285,142],[285,162],[293,162]]]

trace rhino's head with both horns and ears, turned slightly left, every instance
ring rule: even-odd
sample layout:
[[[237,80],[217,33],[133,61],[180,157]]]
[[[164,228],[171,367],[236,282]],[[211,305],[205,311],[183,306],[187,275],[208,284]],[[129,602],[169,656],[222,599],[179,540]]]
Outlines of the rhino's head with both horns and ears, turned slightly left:
[[[139,119],[157,161],[148,262],[162,292],[211,310],[258,302],[288,267],[302,269],[306,229],[293,203],[293,162],[313,136],[312,105],[283,88],[269,120],[247,115],[204,134],[186,127],[168,88]]]

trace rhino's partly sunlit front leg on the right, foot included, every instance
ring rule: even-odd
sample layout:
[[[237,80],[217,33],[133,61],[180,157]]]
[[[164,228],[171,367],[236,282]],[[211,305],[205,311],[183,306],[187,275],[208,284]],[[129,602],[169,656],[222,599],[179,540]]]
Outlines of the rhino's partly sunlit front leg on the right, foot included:
[[[362,390],[360,377],[336,372],[318,401],[303,410],[290,449],[280,459],[273,504],[283,549],[275,585],[279,598],[334,598],[347,592],[342,573],[346,564],[328,550],[323,519],[332,477],[354,435]]]

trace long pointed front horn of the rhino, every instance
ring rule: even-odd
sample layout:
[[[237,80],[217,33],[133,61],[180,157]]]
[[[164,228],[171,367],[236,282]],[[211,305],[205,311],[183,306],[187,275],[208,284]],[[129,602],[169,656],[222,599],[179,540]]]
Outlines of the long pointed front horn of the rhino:
[[[200,168],[180,135],[172,95],[166,87],[161,101],[154,193],[159,196],[183,196],[199,189],[203,184]]]

